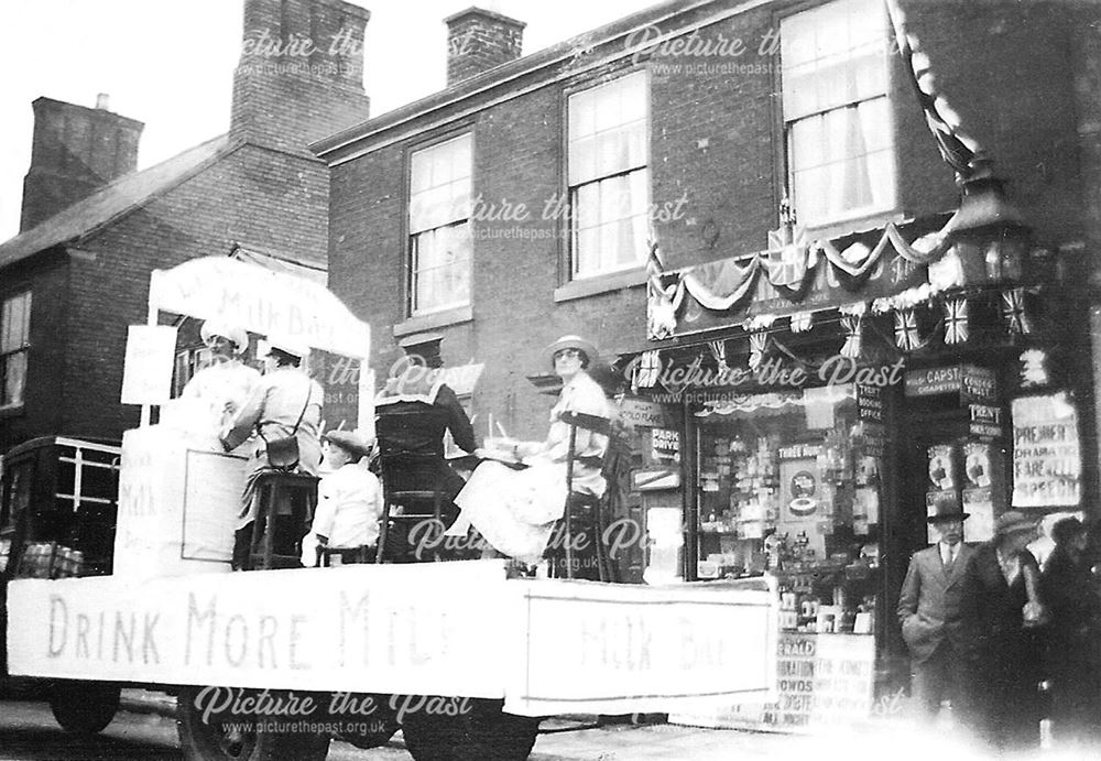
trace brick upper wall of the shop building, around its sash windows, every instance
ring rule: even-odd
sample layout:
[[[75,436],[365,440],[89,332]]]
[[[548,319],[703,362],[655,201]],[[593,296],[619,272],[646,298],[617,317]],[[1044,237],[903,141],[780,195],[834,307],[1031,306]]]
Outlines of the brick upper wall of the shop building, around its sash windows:
[[[694,11],[684,17],[685,23],[730,4]],[[1012,197],[1036,228],[1037,239],[1081,235],[1068,22],[1050,3],[1024,8],[1000,0],[955,3],[953,12],[947,12],[944,7],[949,4],[905,3],[911,30],[929,53],[941,90],[966,128],[993,154],[1002,176],[1011,181]],[[671,268],[762,250],[767,231],[777,225],[785,184],[776,96],[780,57],[762,52],[760,44],[795,7],[775,3],[698,31],[705,40],[721,35],[743,41],[742,55],[686,61],[652,54],[637,62],[651,77],[652,199],[662,204],[687,197],[683,218],[654,225]],[[581,69],[587,63],[579,55],[555,73],[568,73],[571,65]],[[680,68],[674,67],[677,64]],[[694,73],[685,64],[728,68]],[[634,65],[621,59],[598,66],[487,106],[461,122],[469,123],[475,135],[473,193],[484,204],[526,204],[536,218],[519,227],[546,233],[531,240],[491,238],[487,230],[513,224],[476,222],[473,320],[443,330],[449,365],[471,358],[488,363],[475,407],[481,415],[492,411],[511,434],[545,432],[549,402],[535,393],[525,376],[549,369],[539,350],[558,335],[581,333],[614,349],[645,345],[641,286],[555,302],[555,289],[563,284],[559,269],[567,225],[538,218],[545,199],[565,189],[566,95]],[[958,203],[952,172],[939,157],[897,57],[891,83],[898,216],[951,210]],[[457,123],[424,128],[413,138],[333,168],[330,283],[374,327],[374,368],[383,374],[399,356],[392,327],[405,317],[405,156],[421,141],[456,129]],[[484,434],[483,426],[478,428]]]

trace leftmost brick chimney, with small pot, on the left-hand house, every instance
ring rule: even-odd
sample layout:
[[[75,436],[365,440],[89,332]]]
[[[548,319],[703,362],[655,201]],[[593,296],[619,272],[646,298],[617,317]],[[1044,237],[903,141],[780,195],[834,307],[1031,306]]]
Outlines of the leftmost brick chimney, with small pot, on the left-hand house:
[[[31,168],[23,178],[19,229],[86,198],[138,166],[138,141],[144,124],[107,110],[107,95],[96,108],[39,98],[34,110]]]

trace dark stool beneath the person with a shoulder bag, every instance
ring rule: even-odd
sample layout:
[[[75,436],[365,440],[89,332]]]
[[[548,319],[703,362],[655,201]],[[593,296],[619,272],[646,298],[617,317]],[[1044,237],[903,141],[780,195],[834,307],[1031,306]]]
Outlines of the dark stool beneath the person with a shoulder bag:
[[[257,518],[252,524],[253,570],[302,567],[302,537],[317,507],[317,481],[308,474],[269,470],[257,477]]]

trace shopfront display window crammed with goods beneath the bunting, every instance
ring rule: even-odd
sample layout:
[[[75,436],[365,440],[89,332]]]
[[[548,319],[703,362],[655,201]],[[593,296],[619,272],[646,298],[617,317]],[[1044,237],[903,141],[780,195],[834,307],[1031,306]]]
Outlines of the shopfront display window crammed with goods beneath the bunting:
[[[874,632],[883,439],[855,389],[734,396],[696,413],[697,575],[772,573],[782,627]]]

